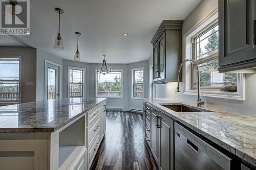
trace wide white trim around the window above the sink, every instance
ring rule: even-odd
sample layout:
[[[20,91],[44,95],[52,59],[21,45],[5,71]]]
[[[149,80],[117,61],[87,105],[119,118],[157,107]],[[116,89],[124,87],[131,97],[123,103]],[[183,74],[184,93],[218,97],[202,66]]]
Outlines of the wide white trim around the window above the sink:
[[[198,32],[203,30],[211,22],[218,18],[218,9],[212,11],[209,15],[203,18],[197,25],[191,28],[188,32],[183,35],[183,59],[192,58],[191,51],[191,38],[194,37]],[[191,90],[191,63],[186,62],[183,67],[183,94],[197,95],[197,90]],[[232,100],[245,100],[245,76],[238,74],[237,92],[226,92],[226,91],[207,91],[201,89],[201,96],[207,96],[212,98],[224,98]]]

